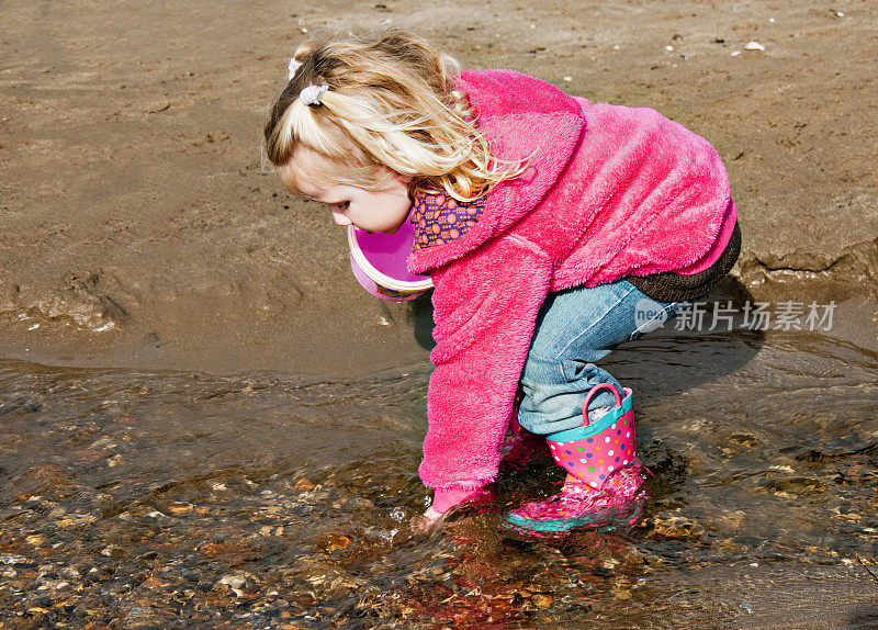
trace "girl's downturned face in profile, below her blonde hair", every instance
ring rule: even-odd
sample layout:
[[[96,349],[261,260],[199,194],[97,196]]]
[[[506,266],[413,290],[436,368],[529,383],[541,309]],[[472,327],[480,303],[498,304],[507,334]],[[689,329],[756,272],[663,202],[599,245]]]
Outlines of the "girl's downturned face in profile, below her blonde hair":
[[[327,172],[325,169],[337,168],[327,158],[309,149],[303,148],[299,158],[308,160],[308,166],[312,167],[308,170]],[[296,181],[295,188],[305,196],[328,205],[333,220],[338,225],[354,225],[367,232],[393,234],[399,229],[412,210],[412,200],[408,198],[412,178],[386,167],[382,167],[382,183],[375,189],[322,182],[319,176],[311,177],[308,181]]]

